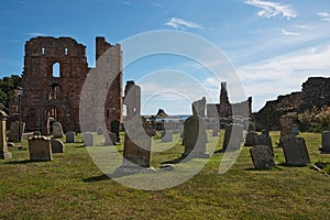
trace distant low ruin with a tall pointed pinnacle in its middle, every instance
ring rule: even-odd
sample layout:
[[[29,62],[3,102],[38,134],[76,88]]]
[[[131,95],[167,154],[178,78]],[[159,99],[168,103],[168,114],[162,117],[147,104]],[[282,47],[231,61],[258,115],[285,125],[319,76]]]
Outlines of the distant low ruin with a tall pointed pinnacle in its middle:
[[[221,82],[220,102],[207,105],[207,118],[229,119],[232,116],[250,118],[252,113],[252,97],[248,100],[230,103],[227,90],[227,82]]]

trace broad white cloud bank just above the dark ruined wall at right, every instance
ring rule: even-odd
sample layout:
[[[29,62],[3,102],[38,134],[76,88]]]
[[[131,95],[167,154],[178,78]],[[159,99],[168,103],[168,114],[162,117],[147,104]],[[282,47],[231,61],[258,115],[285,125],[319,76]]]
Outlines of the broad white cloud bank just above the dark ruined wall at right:
[[[246,94],[253,96],[254,110],[279,95],[299,91],[310,76],[330,75],[330,44],[285,54],[238,68]]]

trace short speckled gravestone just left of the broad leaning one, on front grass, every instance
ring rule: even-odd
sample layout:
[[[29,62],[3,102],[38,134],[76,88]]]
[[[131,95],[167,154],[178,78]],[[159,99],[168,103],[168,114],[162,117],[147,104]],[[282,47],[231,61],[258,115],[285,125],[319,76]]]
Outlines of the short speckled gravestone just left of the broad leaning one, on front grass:
[[[256,145],[250,148],[250,154],[253,161],[254,168],[270,169],[275,167],[272,151],[268,146]]]

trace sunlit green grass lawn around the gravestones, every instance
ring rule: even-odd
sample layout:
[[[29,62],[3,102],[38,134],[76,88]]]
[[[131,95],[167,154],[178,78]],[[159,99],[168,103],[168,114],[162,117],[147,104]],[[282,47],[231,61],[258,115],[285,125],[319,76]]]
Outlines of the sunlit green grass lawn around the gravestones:
[[[209,131],[210,132],[210,131]],[[210,133],[209,133],[210,134]],[[271,132],[277,142],[279,132]],[[330,163],[319,154],[321,134],[301,133],[312,163]],[[221,148],[221,131],[217,150]],[[178,138],[175,138],[178,140]],[[209,144],[215,143],[209,138]],[[65,140],[63,140],[65,141]],[[283,151],[274,148],[277,165],[254,170],[243,147],[228,173],[219,175],[223,153],[216,153],[202,170],[174,188],[146,191],[107,178],[95,165],[81,138],[66,144],[52,162],[29,162],[28,148],[11,148],[0,161],[1,219],[329,219],[330,177],[310,166],[285,166]],[[26,140],[22,141],[26,147]],[[275,145],[275,144],[274,144]],[[98,147],[98,146],[96,146]],[[153,140],[152,165],[176,160],[184,147]],[[122,145],[117,146],[122,151]]]

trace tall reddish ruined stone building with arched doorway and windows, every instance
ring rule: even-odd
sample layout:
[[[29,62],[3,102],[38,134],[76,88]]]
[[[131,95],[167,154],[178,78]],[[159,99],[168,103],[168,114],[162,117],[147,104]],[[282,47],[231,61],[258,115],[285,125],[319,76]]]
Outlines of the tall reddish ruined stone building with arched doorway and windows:
[[[122,53],[119,44],[111,45],[105,37],[96,37],[96,59],[107,50],[112,50],[107,65],[117,73],[112,85],[109,85],[102,111],[107,128],[110,129],[112,120],[122,121]],[[86,77],[97,75],[98,72],[98,63],[96,67],[88,67],[86,46],[74,38],[38,36],[28,41],[21,108],[25,130],[47,134],[52,130],[52,123],[58,121],[64,131],[80,131],[81,88]],[[90,120],[95,120],[95,117],[91,114]]]

